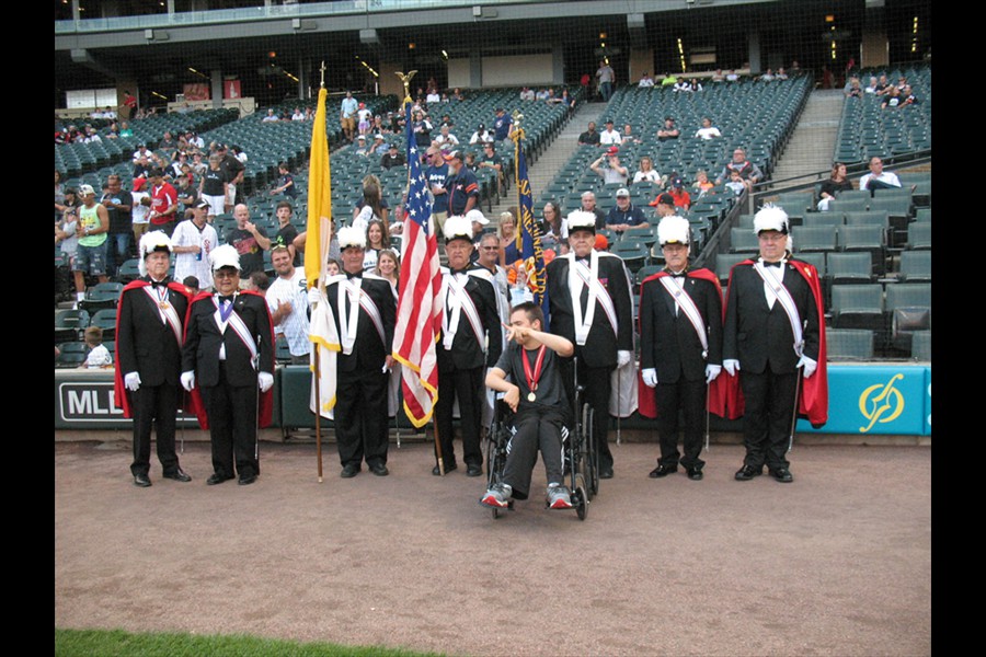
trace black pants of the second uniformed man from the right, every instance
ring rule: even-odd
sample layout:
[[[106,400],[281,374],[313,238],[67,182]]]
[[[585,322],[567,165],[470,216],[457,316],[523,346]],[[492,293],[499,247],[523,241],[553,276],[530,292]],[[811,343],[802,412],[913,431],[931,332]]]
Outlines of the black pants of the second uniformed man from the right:
[[[654,390],[657,401],[657,435],[661,439],[662,465],[677,465],[678,454],[678,411],[685,415],[685,456],[680,458],[685,468],[701,468],[706,464],[702,453],[702,429],[706,426],[706,382],[687,381],[657,383]]]

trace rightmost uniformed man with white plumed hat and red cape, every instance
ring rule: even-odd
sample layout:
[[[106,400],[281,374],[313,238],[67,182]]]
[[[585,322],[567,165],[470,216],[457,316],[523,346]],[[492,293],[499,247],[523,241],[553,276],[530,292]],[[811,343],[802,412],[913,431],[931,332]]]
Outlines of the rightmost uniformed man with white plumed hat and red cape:
[[[760,254],[730,273],[723,367],[745,402],[729,395],[731,416],[744,415],[746,458],[736,480],[763,474],[793,481],[786,458],[793,437],[794,405],[814,426],[828,416],[825,325],[818,272],[791,257],[788,215],[767,206],[754,216]],[[802,380],[803,378],[803,380]]]

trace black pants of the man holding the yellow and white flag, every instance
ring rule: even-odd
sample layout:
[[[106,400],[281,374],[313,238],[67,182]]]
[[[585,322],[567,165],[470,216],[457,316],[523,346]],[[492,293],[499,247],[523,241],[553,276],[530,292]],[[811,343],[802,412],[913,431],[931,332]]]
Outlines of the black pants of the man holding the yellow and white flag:
[[[379,368],[340,372],[335,404],[339,460],[345,466],[387,463],[387,382]]]

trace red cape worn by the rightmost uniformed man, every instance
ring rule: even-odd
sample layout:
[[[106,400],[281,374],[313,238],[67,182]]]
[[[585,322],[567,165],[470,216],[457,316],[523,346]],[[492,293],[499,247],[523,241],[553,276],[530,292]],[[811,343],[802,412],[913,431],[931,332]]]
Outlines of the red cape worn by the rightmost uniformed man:
[[[825,308],[822,297],[822,286],[818,280],[818,272],[814,265],[809,263],[791,260],[788,261],[794,269],[801,274],[802,278],[812,289],[815,297],[815,308],[818,313],[818,368],[810,379],[801,380],[801,393],[798,397],[798,414],[807,417],[807,420],[814,428],[819,428],[828,422],[828,350],[825,346]],[[755,264],[753,260],[745,260],[733,266],[733,269],[740,266],[749,266]],[[730,270],[730,285],[733,283],[733,270]],[[723,307],[725,312],[725,307]],[[715,383],[722,382],[716,387]],[[712,385],[715,392],[714,405],[712,405],[713,393],[710,391],[709,410],[716,415],[736,419],[743,415],[746,407],[746,401],[743,399],[743,389],[740,385],[740,376],[731,377],[729,372],[723,372]]]

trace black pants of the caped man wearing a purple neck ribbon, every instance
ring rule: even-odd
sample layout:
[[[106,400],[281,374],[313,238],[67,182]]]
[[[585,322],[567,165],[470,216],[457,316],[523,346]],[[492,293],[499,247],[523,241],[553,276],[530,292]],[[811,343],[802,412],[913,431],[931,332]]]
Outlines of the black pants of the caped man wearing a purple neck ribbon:
[[[241,477],[260,474],[256,450],[257,388],[226,382],[226,364],[219,361],[219,384],[203,388],[209,437],[213,443],[213,470],[216,474]],[[236,463],[236,468],[233,468]]]

